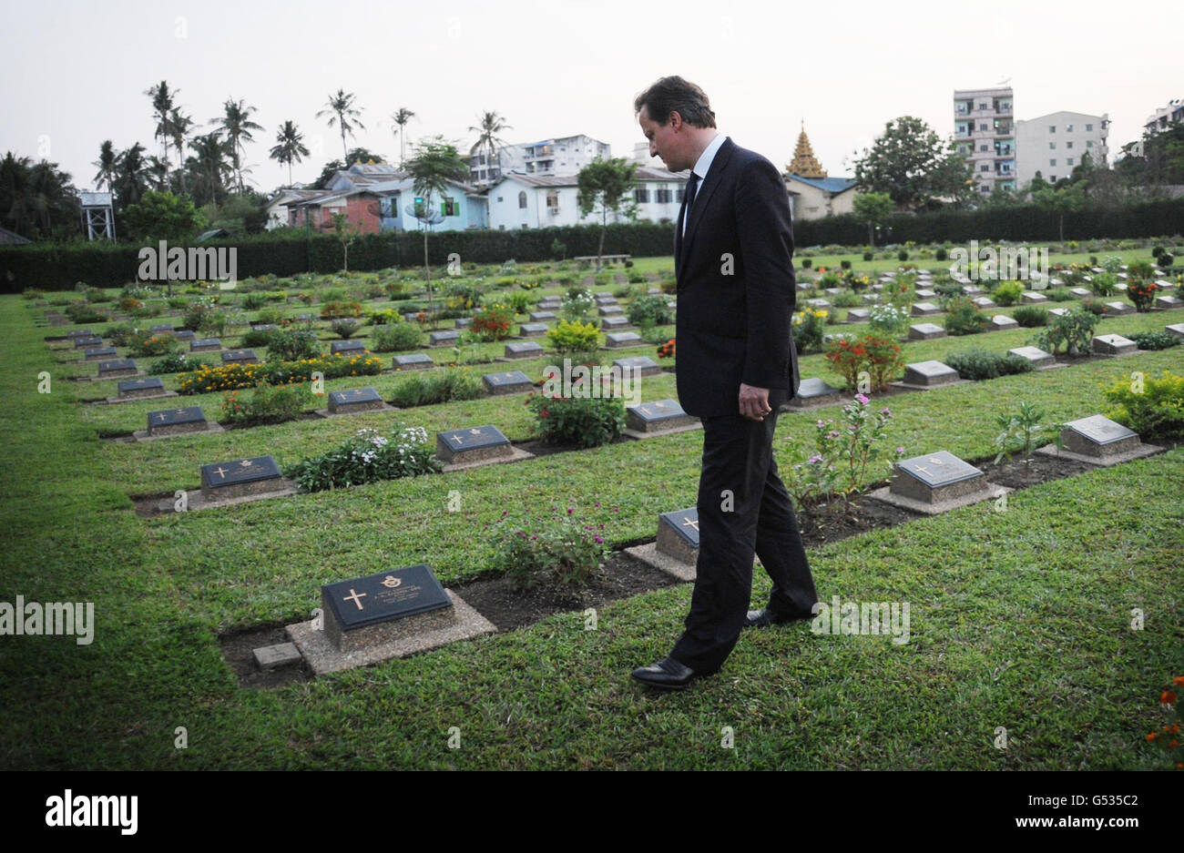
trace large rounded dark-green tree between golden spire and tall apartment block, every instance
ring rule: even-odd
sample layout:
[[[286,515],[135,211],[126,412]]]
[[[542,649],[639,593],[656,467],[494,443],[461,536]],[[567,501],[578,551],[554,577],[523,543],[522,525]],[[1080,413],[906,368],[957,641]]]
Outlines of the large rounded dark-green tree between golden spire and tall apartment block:
[[[901,116],[855,161],[855,180],[870,193],[887,193],[899,206],[919,209],[965,202],[973,181],[970,163],[920,118]]]

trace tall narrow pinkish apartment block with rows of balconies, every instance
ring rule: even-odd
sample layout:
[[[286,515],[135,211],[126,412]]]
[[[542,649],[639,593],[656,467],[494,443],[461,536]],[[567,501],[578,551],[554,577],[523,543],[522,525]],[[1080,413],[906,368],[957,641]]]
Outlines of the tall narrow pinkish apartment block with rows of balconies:
[[[979,193],[1016,188],[1011,86],[954,90],[954,141]]]

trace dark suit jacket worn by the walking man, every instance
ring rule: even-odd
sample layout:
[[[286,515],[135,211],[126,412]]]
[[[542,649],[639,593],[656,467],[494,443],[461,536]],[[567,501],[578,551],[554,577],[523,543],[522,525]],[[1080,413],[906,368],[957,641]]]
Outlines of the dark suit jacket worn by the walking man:
[[[740,412],[740,383],[797,393],[791,331],[797,302],[789,194],[777,167],[731,137],[675,226],[678,402],[700,418]],[[728,257],[731,256],[731,267]]]

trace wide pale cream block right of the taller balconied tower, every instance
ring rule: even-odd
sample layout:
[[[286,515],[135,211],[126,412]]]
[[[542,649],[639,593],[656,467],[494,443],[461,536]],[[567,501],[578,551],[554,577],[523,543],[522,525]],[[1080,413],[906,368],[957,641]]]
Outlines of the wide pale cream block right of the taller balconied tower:
[[[1021,189],[1038,172],[1049,183],[1069,177],[1088,154],[1094,166],[1109,160],[1109,114],[1049,112],[1016,122],[1016,181]]]

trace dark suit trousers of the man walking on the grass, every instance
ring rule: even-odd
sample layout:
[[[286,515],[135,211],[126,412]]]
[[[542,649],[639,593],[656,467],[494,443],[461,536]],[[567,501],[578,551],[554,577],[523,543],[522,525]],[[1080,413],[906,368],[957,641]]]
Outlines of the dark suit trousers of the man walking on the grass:
[[[744,627],[753,554],[773,581],[768,609],[810,613],[818,600],[790,495],[773,459],[777,403],[761,421],[702,418],[699,561],[686,631],[670,657],[696,672],[719,670]],[[731,492],[731,504],[728,503]]]

